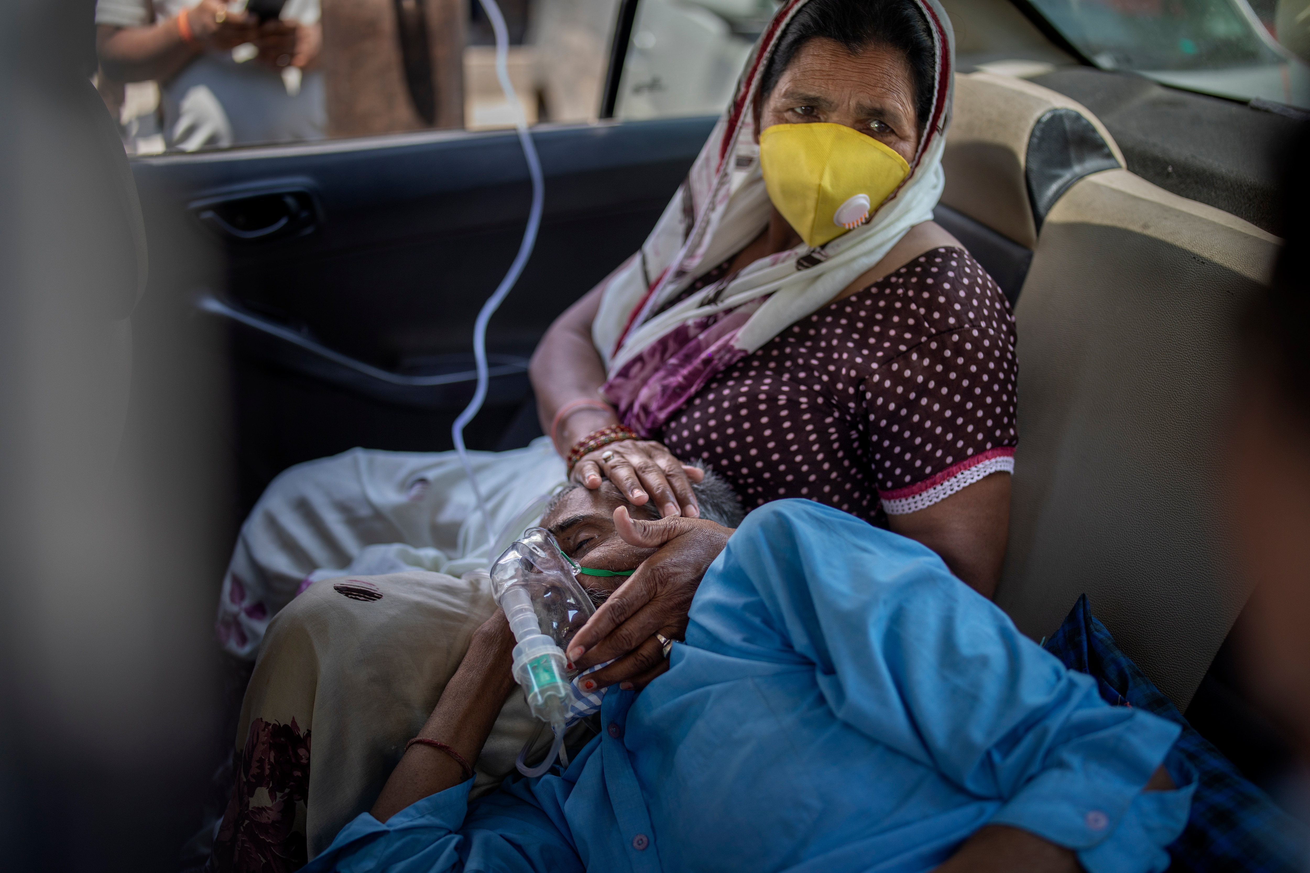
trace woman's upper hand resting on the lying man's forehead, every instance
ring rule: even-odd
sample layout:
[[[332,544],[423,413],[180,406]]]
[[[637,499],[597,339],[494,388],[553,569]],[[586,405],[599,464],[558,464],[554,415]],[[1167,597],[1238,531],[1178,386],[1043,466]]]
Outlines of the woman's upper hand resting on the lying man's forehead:
[[[684,466],[655,440],[622,440],[584,454],[574,466],[572,480],[599,488],[601,476],[613,482],[635,507],[654,500],[660,518],[701,514],[692,483],[705,478],[698,467]],[[635,543],[634,543],[635,544]]]

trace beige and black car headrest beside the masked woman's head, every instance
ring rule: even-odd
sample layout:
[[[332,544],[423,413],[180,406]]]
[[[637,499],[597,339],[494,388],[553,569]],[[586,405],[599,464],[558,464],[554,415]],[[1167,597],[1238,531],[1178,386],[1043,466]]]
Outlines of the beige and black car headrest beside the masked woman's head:
[[[1064,94],[1011,76],[955,77],[942,203],[1027,249],[1070,185],[1127,166],[1110,131]]]

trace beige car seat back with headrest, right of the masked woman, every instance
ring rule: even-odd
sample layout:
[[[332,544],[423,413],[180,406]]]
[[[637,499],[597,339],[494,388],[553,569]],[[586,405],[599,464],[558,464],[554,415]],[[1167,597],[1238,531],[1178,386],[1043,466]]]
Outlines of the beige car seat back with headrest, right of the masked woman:
[[[1247,594],[1224,558],[1224,404],[1277,240],[1133,175],[1090,111],[1018,79],[958,77],[945,165],[948,209],[1034,253],[997,602],[1040,639],[1086,593],[1186,709]]]

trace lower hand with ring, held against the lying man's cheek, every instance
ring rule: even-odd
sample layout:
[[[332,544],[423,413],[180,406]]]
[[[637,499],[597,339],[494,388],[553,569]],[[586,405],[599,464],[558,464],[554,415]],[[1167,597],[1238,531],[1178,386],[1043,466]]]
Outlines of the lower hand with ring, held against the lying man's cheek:
[[[616,682],[622,688],[645,688],[668,669],[655,633],[683,639],[696,589],[732,535],[730,527],[705,520],[634,520],[625,507],[614,510],[614,526],[625,542],[658,551],[600,605],[569,644],[569,660],[578,669],[614,660],[580,681],[584,691]]]

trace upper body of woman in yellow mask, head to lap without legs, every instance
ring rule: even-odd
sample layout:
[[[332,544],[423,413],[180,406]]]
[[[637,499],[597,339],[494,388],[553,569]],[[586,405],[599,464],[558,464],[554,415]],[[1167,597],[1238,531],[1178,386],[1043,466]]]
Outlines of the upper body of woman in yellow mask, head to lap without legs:
[[[646,245],[537,351],[562,452],[620,423],[647,437],[583,454],[575,480],[604,474],[685,512],[672,457],[700,457],[748,507],[828,503],[931,546],[990,594],[1014,327],[931,221],[950,41],[934,3],[778,12]],[[597,389],[613,410],[578,406]]]

